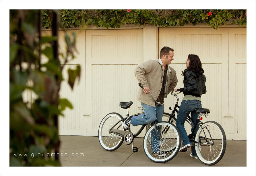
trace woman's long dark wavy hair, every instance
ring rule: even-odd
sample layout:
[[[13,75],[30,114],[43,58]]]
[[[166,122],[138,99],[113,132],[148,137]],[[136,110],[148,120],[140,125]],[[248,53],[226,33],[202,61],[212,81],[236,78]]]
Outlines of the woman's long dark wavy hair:
[[[197,75],[197,77],[203,75],[204,71],[202,68],[202,63],[199,59],[199,57],[195,54],[189,54],[189,67],[187,67],[184,71],[182,71],[182,75],[186,73],[186,71],[193,71]]]

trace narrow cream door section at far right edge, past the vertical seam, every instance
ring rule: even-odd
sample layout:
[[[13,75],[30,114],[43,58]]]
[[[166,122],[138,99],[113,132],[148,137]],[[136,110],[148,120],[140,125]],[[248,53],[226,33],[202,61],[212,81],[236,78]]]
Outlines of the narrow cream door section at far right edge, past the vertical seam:
[[[246,28],[228,29],[228,139],[246,138]]]

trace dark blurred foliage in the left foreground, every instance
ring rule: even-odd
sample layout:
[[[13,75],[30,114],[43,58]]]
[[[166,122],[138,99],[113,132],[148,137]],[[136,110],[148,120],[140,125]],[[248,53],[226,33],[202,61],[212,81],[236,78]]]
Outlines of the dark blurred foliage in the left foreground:
[[[41,37],[40,28],[40,10],[10,10],[10,166],[60,166],[56,121],[66,107],[73,108],[59,97],[64,80],[63,65],[54,56],[57,36]],[[75,44],[67,35],[65,39],[72,55]],[[48,58],[45,64],[40,62],[42,54]],[[80,67],[71,72],[68,82],[73,88]],[[23,95],[27,91],[35,94],[34,101]]]

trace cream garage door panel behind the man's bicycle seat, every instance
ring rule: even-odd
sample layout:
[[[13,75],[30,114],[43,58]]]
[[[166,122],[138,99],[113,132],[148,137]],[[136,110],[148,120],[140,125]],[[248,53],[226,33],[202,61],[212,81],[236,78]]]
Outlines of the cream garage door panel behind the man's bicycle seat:
[[[86,31],[87,136],[98,136],[100,122],[110,112],[126,117],[121,101],[133,101],[130,115],[140,112],[134,69],[142,61],[142,29]]]

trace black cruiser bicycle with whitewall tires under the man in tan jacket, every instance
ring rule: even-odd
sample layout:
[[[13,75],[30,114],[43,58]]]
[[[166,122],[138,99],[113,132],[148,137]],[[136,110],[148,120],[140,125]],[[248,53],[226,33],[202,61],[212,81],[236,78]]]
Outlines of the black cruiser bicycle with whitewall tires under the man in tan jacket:
[[[141,85],[139,85],[142,87]],[[143,88],[143,87],[142,87]],[[150,93],[150,92],[149,92]],[[150,93],[152,96],[152,94]],[[154,100],[153,96],[152,99]],[[157,105],[163,105],[159,102],[154,102]],[[120,102],[119,106],[121,108],[127,109],[127,117],[129,117],[128,108],[131,107],[133,102]],[[155,106],[155,110],[156,110]],[[137,116],[143,113],[137,113],[133,116]],[[127,145],[133,144],[133,139],[141,133],[141,131],[146,127],[147,124],[142,125],[141,128],[133,134],[130,130],[130,127],[125,130],[123,128],[123,122],[127,117],[123,118],[119,113],[109,113],[106,115],[99,126],[98,137],[100,145],[107,151],[114,151],[118,149],[124,142]],[[181,146],[181,138],[179,130],[175,125],[170,122],[157,120],[154,122],[154,125],[147,125],[146,134],[143,139],[143,148],[146,156],[156,162],[156,163],[165,163],[173,159],[179,152]],[[152,149],[158,148],[160,151],[165,153],[165,156],[159,156],[154,154]],[[133,147],[134,152],[138,151],[137,147]]]

